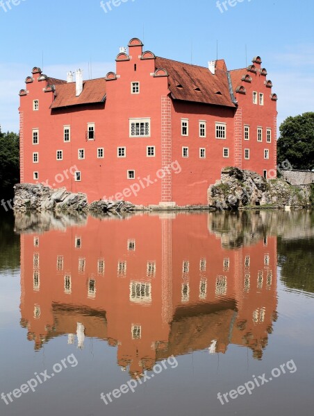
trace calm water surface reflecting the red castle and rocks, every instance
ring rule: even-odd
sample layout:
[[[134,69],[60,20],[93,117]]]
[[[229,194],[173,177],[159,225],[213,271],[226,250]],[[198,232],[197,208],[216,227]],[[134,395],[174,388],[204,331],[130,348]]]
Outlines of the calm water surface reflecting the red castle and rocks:
[[[1,415],[313,415],[313,214],[5,216],[0,245]]]

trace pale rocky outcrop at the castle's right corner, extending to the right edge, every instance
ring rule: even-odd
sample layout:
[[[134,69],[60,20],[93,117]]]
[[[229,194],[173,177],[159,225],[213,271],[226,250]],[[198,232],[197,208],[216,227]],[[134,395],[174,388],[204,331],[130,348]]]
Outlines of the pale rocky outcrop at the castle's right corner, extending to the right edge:
[[[258,173],[226,168],[222,179],[208,189],[208,205],[217,209],[241,207],[304,208],[311,204],[310,186],[295,187],[281,179],[266,180]]]

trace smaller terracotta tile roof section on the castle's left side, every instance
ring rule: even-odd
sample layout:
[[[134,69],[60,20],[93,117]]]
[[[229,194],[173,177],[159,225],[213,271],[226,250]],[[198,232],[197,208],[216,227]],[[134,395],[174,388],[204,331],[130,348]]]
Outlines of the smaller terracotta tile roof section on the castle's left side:
[[[103,103],[106,98],[106,80],[105,78],[97,78],[95,80],[83,81],[81,95],[76,97],[75,92],[75,83],[57,84],[56,98],[50,108]]]

